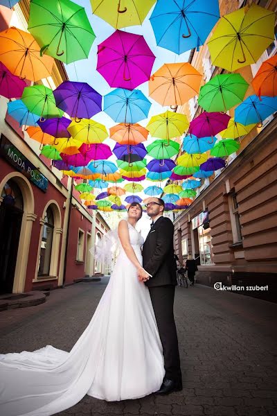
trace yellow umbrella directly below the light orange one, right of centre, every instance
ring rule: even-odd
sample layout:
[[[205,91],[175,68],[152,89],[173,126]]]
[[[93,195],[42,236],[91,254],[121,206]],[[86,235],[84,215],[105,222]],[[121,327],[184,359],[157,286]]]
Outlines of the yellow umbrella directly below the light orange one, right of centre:
[[[146,128],[152,137],[169,140],[183,135],[188,125],[188,118],[185,114],[166,111],[157,116],[152,116]]]

